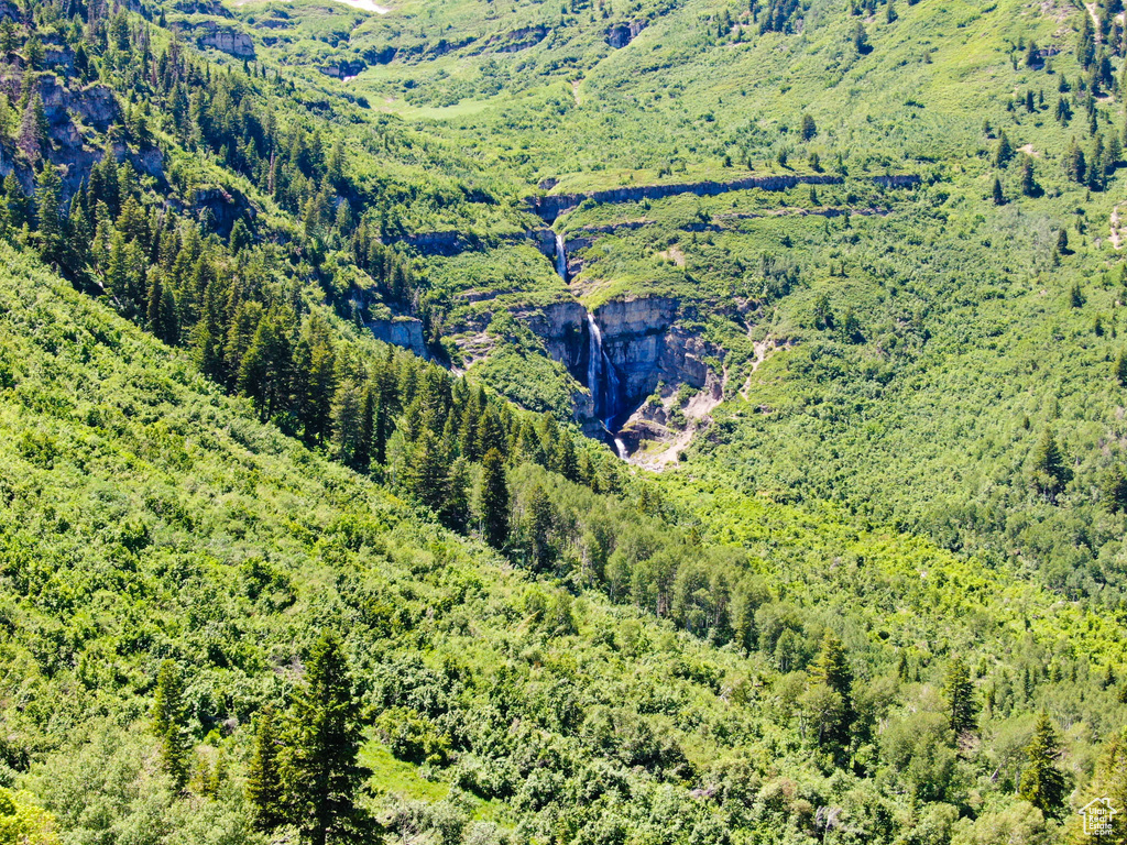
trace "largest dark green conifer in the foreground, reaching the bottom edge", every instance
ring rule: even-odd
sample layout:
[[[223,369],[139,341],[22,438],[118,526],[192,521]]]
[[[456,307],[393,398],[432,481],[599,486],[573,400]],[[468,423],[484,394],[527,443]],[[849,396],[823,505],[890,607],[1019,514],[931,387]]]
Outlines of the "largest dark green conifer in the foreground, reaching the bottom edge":
[[[352,842],[363,828],[356,791],[362,736],[340,640],[326,632],[313,646],[294,703],[293,733],[282,762],[289,818],[310,845]]]

